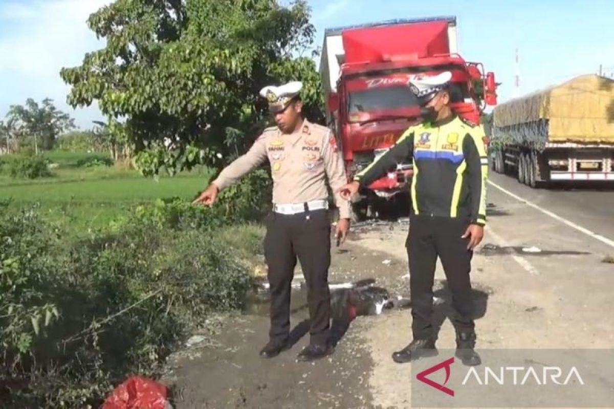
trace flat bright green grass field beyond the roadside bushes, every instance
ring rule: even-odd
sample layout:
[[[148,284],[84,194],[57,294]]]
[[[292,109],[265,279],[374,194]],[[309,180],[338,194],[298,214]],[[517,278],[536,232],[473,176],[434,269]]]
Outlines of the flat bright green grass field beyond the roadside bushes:
[[[211,171],[206,168],[175,177],[161,176],[156,181],[115,166],[76,167],[88,155],[91,154],[45,155],[58,164],[49,178],[12,178],[7,172],[1,172],[0,200],[9,201],[10,209],[39,205],[50,221],[66,223],[74,232],[86,232],[107,225],[135,204],[168,197],[192,199],[211,177]]]

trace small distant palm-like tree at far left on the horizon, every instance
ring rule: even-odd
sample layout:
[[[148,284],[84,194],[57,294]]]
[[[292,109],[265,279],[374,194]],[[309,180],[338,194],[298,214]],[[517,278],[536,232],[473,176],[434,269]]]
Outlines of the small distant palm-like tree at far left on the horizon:
[[[25,134],[34,139],[34,150],[39,151],[39,141],[42,148],[50,150],[55,140],[63,132],[75,128],[74,120],[53,104],[53,100],[45,98],[39,105],[34,99],[28,98],[25,105],[11,105],[7,113],[7,123],[23,128]]]

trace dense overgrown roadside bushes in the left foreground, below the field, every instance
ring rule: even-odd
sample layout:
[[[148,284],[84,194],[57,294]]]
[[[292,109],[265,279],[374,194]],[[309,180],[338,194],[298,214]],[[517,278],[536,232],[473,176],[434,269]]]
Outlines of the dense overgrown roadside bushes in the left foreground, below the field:
[[[134,213],[74,243],[36,209],[0,214],[3,407],[97,407],[127,374],[155,377],[208,314],[244,307],[251,278],[212,213]]]

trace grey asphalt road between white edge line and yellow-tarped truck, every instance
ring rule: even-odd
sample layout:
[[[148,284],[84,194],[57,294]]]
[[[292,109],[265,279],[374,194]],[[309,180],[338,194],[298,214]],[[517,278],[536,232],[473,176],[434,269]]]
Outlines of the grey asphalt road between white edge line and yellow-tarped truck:
[[[492,171],[489,179],[495,185],[538,207],[607,239],[614,240],[614,186],[608,188],[604,185],[593,185],[585,188],[572,188],[572,186],[565,185],[557,188],[532,189],[521,185],[513,177],[495,174]],[[489,185],[488,189],[491,192],[502,193],[494,185]],[[487,211],[487,216],[488,213]],[[544,215],[544,217],[548,216]],[[578,232],[578,234],[581,233]]]

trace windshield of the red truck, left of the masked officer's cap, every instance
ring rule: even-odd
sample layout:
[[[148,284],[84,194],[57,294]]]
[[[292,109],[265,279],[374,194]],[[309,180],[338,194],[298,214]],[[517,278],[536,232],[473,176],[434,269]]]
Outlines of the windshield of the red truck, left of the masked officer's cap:
[[[348,95],[348,105],[348,113],[359,113],[415,107],[418,100],[410,88],[403,85],[352,91]]]

